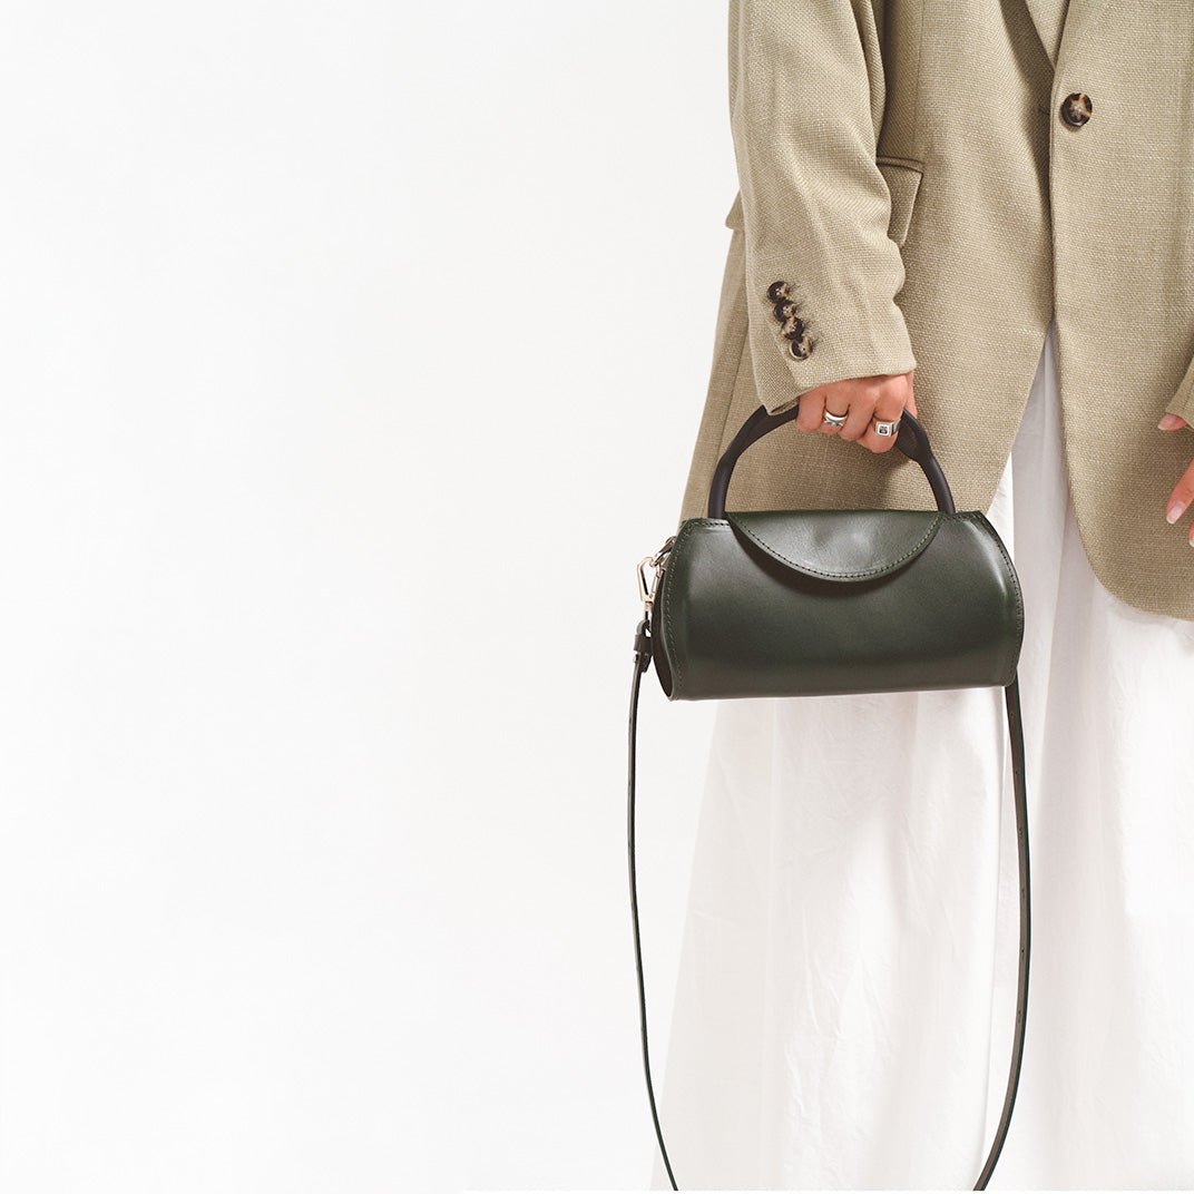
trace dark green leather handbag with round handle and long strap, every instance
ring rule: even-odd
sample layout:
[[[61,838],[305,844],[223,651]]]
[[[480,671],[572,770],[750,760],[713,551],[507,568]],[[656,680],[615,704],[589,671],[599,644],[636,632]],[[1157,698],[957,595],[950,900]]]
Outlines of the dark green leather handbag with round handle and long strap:
[[[906,412],[896,447],[924,470],[935,511],[727,513],[738,458],[796,413],[768,414],[759,407],[718,463],[708,517],[685,521],[639,565],[645,616],[635,635],[630,690],[628,845],[642,1060],[656,1135],[678,1189],[651,1079],[635,880],[635,738],[639,690],[651,663],[665,695],[679,701],[999,687],[1014,771],[1020,962],[1003,1113],[974,1187],[985,1189],[1011,1122],[1028,1008],[1028,814],[1016,683],[1023,638],[1020,583],[986,518],[955,512],[928,436]]]

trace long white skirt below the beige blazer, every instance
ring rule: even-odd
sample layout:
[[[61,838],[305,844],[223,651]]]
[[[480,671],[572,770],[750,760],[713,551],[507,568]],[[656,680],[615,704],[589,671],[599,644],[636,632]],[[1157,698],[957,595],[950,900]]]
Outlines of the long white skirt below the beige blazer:
[[[989,517],[1024,591],[1033,879],[991,1188],[1194,1188],[1194,623],[1090,571],[1052,326]],[[1017,931],[1001,690],[724,702],[661,1102],[681,1188],[971,1187]]]

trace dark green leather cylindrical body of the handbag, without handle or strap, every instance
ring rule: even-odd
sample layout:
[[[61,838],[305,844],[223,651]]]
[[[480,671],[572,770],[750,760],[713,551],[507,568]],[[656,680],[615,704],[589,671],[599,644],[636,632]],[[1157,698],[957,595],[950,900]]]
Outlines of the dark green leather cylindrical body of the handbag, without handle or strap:
[[[978,512],[690,518],[652,609],[672,700],[1005,687],[1023,603]]]

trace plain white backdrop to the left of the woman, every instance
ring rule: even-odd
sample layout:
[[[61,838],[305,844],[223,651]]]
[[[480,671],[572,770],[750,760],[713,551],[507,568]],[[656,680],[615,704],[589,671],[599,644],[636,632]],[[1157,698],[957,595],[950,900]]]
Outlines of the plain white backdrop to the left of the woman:
[[[2,16],[4,1189],[646,1186],[724,5]]]

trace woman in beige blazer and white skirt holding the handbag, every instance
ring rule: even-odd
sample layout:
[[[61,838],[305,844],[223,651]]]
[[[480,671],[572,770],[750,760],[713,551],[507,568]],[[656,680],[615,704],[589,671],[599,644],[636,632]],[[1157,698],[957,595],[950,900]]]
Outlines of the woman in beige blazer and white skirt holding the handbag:
[[[798,400],[731,509],[927,506],[886,455],[918,414],[1024,589],[1033,975],[995,1184],[1194,1186],[1194,10],[731,0],[730,37],[683,513]],[[973,1181],[1015,980],[998,701],[722,706],[663,1101],[682,1187]]]

